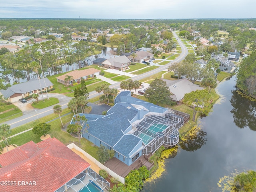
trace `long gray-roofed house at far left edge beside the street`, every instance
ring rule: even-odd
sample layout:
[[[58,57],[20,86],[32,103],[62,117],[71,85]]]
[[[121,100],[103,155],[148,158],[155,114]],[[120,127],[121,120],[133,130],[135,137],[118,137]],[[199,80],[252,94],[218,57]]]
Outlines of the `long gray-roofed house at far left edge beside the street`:
[[[51,89],[53,86],[52,82],[50,82],[48,78],[44,78],[44,79],[32,78],[27,82],[12,85],[6,90],[0,90],[0,95],[4,96],[4,99],[7,102],[15,102],[31,94],[41,92],[40,84],[43,91],[46,88]]]

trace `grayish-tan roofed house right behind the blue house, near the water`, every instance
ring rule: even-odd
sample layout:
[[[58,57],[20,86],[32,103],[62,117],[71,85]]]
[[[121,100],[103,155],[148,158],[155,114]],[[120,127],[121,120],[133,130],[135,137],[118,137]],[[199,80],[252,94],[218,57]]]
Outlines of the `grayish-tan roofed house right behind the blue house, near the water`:
[[[171,98],[172,100],[176,102],[180,102],[186,93],[190,93],[192,91],[196,90],[203,90],[203,87],[200,87],[199,85],[193,84],[188,79],[179,79],[179,80],[165,80],[166,85],[169,87],[171,92]]]

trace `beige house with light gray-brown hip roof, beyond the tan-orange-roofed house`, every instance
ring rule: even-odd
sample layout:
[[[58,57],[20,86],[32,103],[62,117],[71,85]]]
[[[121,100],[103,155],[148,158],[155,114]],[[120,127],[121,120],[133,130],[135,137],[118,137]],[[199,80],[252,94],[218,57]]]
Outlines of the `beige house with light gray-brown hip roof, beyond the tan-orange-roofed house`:
[[[114,57],[101,63],[102,67],[117,70],[126,70],[131,61],[126,56]]]

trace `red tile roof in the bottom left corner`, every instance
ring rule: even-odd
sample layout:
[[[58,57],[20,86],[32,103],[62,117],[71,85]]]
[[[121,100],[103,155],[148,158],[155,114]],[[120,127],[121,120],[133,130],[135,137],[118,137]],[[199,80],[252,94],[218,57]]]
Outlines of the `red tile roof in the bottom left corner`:
[[[0,181],[16,182],[1,185],[1,192],[54,192],[90,166],[56,138],[31,141],[2,154],[0,164]]]

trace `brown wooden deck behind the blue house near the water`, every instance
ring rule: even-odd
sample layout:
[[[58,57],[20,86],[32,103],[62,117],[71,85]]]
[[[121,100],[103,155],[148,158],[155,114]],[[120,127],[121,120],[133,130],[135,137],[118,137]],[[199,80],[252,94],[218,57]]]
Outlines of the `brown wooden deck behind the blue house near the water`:
[[[123,163],[122,161],[118,160],[115,157],[104,164],[104,166],[111,169],[122,178],[125,178],[128,175],[128,173],[130,173],[130,171],[138,169],[142,165],[146,166],[146,168],[150,170],[154,166],[154,162],[148,160],[148,157],[146,155],[142,155],[130,166],[126,165],[125,163]]]

